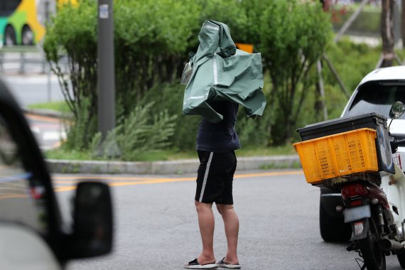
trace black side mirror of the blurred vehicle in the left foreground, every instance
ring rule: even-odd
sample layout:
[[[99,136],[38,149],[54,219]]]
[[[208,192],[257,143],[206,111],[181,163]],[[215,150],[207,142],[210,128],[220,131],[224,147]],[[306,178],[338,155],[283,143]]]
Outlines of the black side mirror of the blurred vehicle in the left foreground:
[[[109,186],[102,182],[77,184],[73,209],[72,258],[108,254],[112,249],[113,217]]]

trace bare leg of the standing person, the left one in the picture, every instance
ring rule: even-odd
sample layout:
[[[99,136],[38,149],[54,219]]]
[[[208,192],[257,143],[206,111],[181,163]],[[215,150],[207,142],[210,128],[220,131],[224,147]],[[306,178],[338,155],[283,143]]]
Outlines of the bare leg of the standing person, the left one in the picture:
[[[200,264],[210,264],[215,261],[215,218],[214,212],[212,212],[212,203],[195,201],[195,208],[198,214],[198,225],[200,226],[200,234],[202,240],[202,252],[197,259]]]

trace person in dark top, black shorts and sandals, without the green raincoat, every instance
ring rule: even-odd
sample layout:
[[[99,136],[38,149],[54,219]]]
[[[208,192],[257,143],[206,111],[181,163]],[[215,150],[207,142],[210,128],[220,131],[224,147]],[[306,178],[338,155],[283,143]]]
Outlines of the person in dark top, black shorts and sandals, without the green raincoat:
[[[239,218],[233,207],[232,182],[237,167],[234,151],[240,148],[239,137],[234,126],[239,105],[229,101],[208,102],[212,109],[222,114],[218,123],[202,117],[198,126],[198,167],[195,208],[202,240],[202,252],[193,261],[185,264],[186,269],[216,269],[218,266],[240,269],[237,257]],[[227,237],[227,254],[215,262],[214,228],[215,218],[212,204],[215,202],[222,215]]]

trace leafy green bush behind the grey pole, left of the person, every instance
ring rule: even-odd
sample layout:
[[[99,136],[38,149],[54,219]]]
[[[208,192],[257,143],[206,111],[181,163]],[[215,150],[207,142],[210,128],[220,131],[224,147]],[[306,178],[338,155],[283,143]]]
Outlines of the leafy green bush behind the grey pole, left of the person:
[[[191,0],[160,0],[158,5],[152,0],[114,2],[117,119],[129,117],[155,83],[176,77],[192,26],[198,22],[196,12]],[[47,31],[44,50],[75,117],[70,129],[74,142],[68,146],[89,148],[89,138],[97,132],[93,124],[97,121],[97,1],[64,6]],[[68,56],[68,75],[59,64],[61,54]],[[82,104],[84,100],[87,104]]]

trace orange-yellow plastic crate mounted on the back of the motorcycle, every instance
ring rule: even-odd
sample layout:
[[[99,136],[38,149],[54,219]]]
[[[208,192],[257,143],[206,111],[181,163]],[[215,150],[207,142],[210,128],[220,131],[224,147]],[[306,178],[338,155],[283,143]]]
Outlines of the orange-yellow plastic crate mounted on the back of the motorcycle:
[[[356,129],[302,141],[296,148],[308,183],[352,173],[378,171],[374,129]]]

